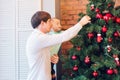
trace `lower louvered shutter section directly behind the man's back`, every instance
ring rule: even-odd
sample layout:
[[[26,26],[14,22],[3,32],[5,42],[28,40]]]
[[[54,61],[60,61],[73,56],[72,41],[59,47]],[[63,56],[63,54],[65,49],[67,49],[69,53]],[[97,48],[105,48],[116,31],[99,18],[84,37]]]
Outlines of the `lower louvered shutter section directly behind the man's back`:
[[[20,80],[26,80],[28,74],[28,61],[26,57],[25,45],[31,31],[20,31],[18,34],[18,56],[19,56],[19,77]]]

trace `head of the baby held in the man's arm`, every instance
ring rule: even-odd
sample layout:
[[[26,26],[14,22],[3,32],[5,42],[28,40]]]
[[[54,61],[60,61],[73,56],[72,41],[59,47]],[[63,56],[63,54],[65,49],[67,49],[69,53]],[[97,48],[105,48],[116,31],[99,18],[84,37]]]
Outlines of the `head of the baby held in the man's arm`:
[[[62,26],[60,24],[60,20],[59,19],[56,19],[56,18],[52,19],[52,29],[55,32],[58,32],[58,31],[60,31],[62,29]]]

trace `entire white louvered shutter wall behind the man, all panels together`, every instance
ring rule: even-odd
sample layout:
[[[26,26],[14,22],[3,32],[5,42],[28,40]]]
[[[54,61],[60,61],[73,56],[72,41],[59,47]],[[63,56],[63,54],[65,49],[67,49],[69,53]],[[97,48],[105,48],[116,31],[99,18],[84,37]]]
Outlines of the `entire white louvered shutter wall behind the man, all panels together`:
[[[0,80],[26,80],[26,40],[41,0],[0,0]]]

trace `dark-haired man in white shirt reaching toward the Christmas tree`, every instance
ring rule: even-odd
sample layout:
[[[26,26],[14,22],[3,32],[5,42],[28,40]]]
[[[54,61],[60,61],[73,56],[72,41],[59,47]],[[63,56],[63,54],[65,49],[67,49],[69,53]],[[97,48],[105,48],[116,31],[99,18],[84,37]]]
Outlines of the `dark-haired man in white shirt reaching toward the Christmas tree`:
[[[34,31],[26,44],[26,54],[30,72],[27,80],[51,80],[50,48],[53,45],[72,39],[80,31],[82,26],[90,21],[89,16],[84,16],[75,26],[60,33],[48,35],[51,30],[51,16],[48,12],[38,11],[31,18]],[[55,58],[55,57],[54,57]],[[53,63],[57,60],[53,59]]]

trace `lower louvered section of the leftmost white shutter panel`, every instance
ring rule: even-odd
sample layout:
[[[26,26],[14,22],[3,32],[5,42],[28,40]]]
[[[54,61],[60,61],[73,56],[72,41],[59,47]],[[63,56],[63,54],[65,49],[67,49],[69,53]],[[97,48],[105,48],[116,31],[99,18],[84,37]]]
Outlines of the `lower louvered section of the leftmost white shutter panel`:
[[[0,30],[0,80],[15,80],[14,33],[14,30]]]

